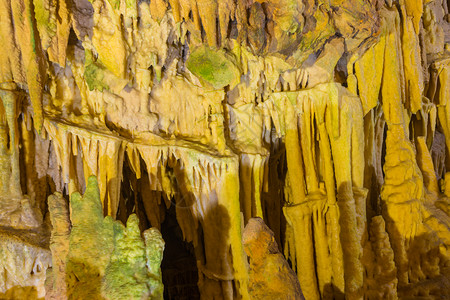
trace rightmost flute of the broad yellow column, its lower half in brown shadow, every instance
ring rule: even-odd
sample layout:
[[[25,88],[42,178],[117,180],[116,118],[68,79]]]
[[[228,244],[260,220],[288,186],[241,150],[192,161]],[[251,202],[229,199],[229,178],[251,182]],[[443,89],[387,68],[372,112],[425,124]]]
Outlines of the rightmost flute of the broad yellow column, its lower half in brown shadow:
[[[338,127],[327,113],[327,130],[337,188],[340,241],[344,257],[345,295],[349,299],[362,297],[363,267],[362,231],[365,229],[365,193],[363,190],[364,154],[362,108],[359,99],[344,89],[338,92]],[[333,100],[332,100],[333,101]],[[336,134],[337,133],[337,134]]]

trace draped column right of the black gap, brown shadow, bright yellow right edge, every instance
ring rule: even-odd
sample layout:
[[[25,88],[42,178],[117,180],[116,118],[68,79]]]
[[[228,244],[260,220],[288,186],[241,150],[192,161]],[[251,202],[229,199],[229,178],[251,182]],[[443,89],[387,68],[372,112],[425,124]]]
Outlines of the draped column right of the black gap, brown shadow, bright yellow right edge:
[[[187,170],[194,168],[186,165]],[[240,212],[239,178],[234,175],[238,174],[238,168],[237,158],[223,158],[194,171],[196,174],[186,174],[189,184],[185,188],[195,201],[192,216],[202,225],[204,252],[197,260],[203,278],[199,287],[205,298],[216,294],[214,297],[223,299],[237,295],[248,299],[248,270],[241,240],[244,220]],[[177,207],[177,215],[182,209]],[[186,226],[182,229],[188,231]],[[214,286],[219,286],[219,290],[214,290]]]

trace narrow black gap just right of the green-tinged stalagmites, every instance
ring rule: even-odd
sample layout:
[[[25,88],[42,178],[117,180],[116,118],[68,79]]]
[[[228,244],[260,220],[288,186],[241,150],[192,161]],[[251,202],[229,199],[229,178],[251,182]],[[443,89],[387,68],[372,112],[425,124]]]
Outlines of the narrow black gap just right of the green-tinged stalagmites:
[[[161,205],[164,205],[163,203],[161,200]],[[200,299],[194,246],[183,240],[173,204],[166,211],[165,220],[161,224],[161,234],[166,243],[161,263],[164,299]]]

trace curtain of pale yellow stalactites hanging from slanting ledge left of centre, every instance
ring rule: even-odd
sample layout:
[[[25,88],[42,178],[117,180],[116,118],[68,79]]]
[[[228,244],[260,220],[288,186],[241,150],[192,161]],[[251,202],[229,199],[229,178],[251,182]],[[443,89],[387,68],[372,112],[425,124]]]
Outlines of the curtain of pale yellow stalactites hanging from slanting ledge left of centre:
[[[96,175],[99,199],[105,215],[118,216],[125,156],[136,179],[146,182],[134,187],[144,199],[144,215],[153,226],[160,227],[164,211],[175,205],[184,239],[194,247],[205,249],[199,265],[204,281],[219,279],[224,293],[233,293],[233,280],[246,275],[240,243],[239,179],[236,157],[211,157],[181,146],[150,146],[122,138],[106,137],[85,129],[45,121],[44,134],[51,140],[60,166],[62,187],[72,194],[84,190],[91,175]],[[141,161],[143,164],[141,164]],[[251,201],[251,199],[249,200]],[[138,207],[136,207],[139,210]],[[161,215],[162,213],[162,215]],[[217,232],[214,228],[228,224]],[[198,228],[202,228],[202,239]],[[230,252],[233,255],[231,259]],[[219,254],[219,255],[218,255]],[[220,289],[220,285],[219,285]],[[231,294],[232,295],[232,294]]]

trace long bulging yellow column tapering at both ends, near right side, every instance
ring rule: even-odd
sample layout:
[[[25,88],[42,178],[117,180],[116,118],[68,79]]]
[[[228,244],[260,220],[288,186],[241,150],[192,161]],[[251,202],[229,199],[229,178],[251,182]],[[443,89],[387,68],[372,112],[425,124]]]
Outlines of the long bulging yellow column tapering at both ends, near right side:
[[[386,40],[384,75],[381,86],[383,111],[388,126],[384,164],[385,182],[381,190],[382,213],[392,241],[399,286],[409,282],[409,243],[419,234],[424,197],[423,177],[415,151],[408,139],[403,99],[402,55],[399,15],[384,15],[382,39]]]

